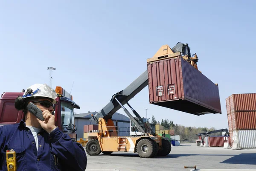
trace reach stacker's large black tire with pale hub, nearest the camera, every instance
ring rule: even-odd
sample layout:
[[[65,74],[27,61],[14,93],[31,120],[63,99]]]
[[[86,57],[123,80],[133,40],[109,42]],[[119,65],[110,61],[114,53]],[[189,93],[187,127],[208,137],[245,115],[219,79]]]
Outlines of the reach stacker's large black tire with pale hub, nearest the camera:
[[[151,158],[154,157],[154,154],[156,152],[154,140],[151,139],[141,139],[137,146],[137,153],[141,158]]]

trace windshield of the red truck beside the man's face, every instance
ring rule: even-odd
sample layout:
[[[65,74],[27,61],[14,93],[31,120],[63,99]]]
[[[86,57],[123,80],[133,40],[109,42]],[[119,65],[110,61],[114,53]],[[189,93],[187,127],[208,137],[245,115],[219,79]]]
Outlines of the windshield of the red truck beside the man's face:
[[[61,125],[67,132],[74,131],[74,107],[65,101],[61,101]]]

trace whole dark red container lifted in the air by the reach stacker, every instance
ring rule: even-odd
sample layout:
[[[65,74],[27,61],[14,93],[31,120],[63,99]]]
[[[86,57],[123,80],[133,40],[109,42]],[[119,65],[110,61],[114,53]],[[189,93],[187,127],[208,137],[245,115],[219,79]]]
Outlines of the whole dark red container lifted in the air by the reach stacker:
[[[148,62],[149,102],[195,115],[221,113],[218,86],[180,56]]]

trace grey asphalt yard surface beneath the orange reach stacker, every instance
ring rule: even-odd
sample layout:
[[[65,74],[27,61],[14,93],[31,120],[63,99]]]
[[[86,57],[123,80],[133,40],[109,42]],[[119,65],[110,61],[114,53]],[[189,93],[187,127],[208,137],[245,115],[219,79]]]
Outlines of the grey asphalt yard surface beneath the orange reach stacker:
[[[256,169],[256,149],[232,150],[222,147],[172,146],[165,157],[140,158],[137,153],[114,152],[89,156],[86,171],[190,171],[199,169]]]

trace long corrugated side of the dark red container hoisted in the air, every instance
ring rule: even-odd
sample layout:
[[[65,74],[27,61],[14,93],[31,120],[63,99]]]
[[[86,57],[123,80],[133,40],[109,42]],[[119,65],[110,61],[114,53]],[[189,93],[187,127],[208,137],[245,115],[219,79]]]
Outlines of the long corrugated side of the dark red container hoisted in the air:
[[[185,98],[221,113],[218,86],[183,58],[180,61]]]

